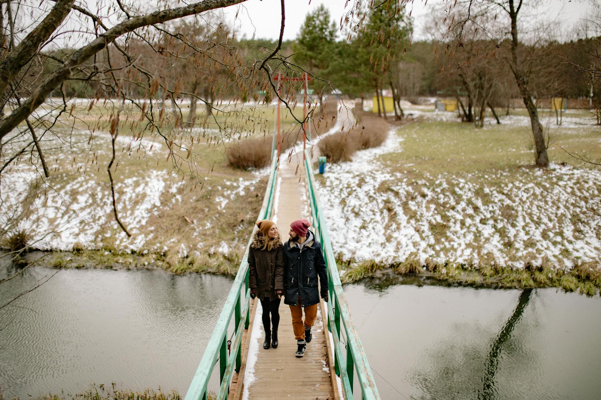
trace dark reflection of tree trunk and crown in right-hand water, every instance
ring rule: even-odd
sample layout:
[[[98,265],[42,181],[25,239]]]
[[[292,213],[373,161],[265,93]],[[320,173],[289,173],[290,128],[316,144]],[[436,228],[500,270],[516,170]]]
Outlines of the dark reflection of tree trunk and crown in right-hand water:
[[[510,368],[516,371],[528,368],[537,358],[523,350],[523,341],[528,335],[514,334],[531,293],[532,289],[525,289],[520,293],[516,308],[496,336],[480,326],[469,329],[458,326],[457,335],[435,345],[429,352],[430,357],[424,360],[430,363],[430,371],[418,369],[410,377],[412,383],[422,391],[412,398],[498,398],[497,372],[502,354],[511,356]],[[483,340],[486,337],[490,339]]]

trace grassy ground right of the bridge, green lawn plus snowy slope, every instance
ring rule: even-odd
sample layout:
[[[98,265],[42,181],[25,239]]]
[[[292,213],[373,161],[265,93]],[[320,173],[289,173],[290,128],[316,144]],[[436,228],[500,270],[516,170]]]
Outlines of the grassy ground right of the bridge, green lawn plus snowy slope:
[[[551,134],[570,152],[601,158],[593,128]],[[343,279],[382,266],[401,273],[438,266],[441,275],[475,283],[480,278],[465,270],[570,270],[596,261],[601,221],[587,207],[601,197],[601,171],[553,144],[551,167],[534,169],[529,143],[522,126],[420,122],[391,133],[381,148],[328,166],[317,181],[335,252],[346,264]]]

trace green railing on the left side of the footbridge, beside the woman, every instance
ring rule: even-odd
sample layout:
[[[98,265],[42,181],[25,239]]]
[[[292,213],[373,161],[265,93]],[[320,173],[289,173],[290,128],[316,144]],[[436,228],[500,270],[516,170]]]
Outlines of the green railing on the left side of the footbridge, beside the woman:
[[[272,214],[277,175],[277,157],[275,153],[272,154],[271,172],[258,219],[270,219]],[[252,233],[254,234],[254,230]],[[198,365],[198,369],[184,400],[207,399],[207,384],[209,384],[209,379],[217,360],[219,360],[219,377],[221,378],[221,386],[219,386],[219,393],[217,395],[217,399],[219,400],[227,399],[234,369],[236,372],[240,371],[242,363],[240,358],[242,332],[244,329],[248,329],[249,323],[248,248],[251,242],[252,235],[248,241],[248,246],[246,246],[246,252],[240,262],[240,268],[238,269],[230,293],[225,300],[224,308],[213,330],[213,335],[209,340],[209,344],[207,344],[206,350],[204,350],[203,359],[201,359],[200,365]],[[242,285],[244,285],[244,290],[242,290]],[[228,346],[228,326],[231,323],[232,315],[234,315],[234,332],[233,339],[231,339],[230,346]],[[228,347],[230,348],[229,354]]]

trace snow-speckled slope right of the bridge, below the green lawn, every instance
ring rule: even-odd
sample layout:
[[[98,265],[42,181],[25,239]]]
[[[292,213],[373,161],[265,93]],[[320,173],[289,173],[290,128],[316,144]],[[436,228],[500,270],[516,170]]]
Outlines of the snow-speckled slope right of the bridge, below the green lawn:
[[[570,266],[601,251],[601,221],[583,211],[587,198],[601,197],[601,171],[552,164],[415,181],[375,161],[400,151],[401,142],[389,134],[380,148],[328,166],[317,180],[334,251],[344,260]]]

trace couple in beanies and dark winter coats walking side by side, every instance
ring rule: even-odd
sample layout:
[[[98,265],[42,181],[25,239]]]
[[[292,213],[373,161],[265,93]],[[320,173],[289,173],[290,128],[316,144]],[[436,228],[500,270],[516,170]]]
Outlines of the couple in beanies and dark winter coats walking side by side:
[[[278,347],[278,310],[284,296],[284,303],[290,306],[292,314],[292,328],[298,346],[296,357],[304,356],[307,343],[311,341],[311,327],[317,317],[320,294],[323,300],[328,301],[328,273],[322,244],[309,230],[310,225],[306,219],[292,222],[288,233],[290,239],[282,245],[275,222],[269,219],[258,221],[258,229],[248,251],[251,297],[258,297],[263,308],[263,348]]]

